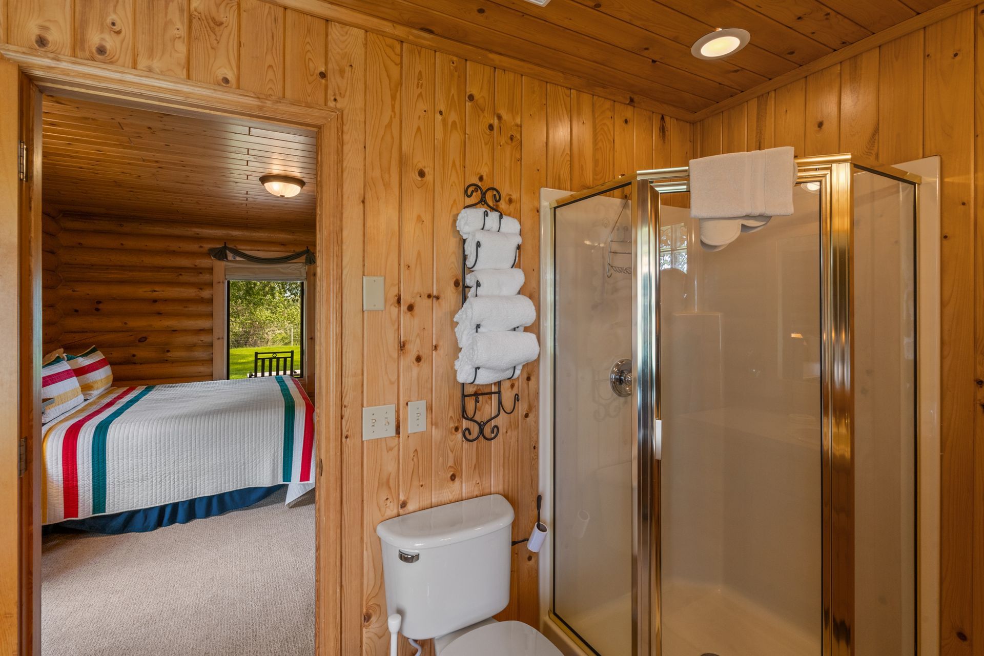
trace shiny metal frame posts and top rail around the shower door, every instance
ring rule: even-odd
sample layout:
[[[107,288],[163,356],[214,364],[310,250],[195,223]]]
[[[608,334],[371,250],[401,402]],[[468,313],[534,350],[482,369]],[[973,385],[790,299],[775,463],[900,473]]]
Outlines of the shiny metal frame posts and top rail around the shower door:
[[[890,166],[852,161],[850,154],[796,159],[797,183],[820,183],[821,330],[822,330],[822,615],[824,656],[853,656],[854,630],[854,387],[853,240],[855,169],[870,171],[913,185],[920,178]],[[637,430],[640,453],[652,454],[651,466],[640,459],[637,521],[640,548],[637,580],[652,591],[651,604],[639,610],[641,637],[637,656],[660,656],[661,590],[659,585],[659,474],[661,415],[659,372],[659,264],[657,240],[662,194],[690,191],[689,168],[640,171],[634,212],[638,244],[633,296],[633,362],[637,387]],[[917,217],[918,220],[918,217]],[[651,488],[646,492],[643,478]],[[651,525],[646,520],[651,517]],[[647,645],[647,647],[646,647]]]

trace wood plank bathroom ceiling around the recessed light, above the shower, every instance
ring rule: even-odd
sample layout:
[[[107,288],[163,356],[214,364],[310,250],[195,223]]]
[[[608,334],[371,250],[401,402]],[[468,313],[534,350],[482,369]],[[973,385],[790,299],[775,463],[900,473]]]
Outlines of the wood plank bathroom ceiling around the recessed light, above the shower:
[[[947,0],[332,0],[409,28],[697,112]],[[296,4],[296,2],[295,2]],[[691,55],[715,28],[751,43]],[[643,103],[646,104],[646,103]]]

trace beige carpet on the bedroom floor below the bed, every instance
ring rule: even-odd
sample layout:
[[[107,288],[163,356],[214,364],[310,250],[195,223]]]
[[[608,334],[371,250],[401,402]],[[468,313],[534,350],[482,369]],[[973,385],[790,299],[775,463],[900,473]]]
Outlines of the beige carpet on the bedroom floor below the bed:
[[[314,504],[149,533],[55,534],[42,548],[44,656],[310,656]]]

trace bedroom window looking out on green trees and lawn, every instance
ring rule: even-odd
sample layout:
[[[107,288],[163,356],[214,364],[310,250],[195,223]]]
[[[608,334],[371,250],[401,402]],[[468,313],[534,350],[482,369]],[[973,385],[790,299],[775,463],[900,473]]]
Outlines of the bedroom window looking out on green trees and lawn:
[[[304,376],[304,283],[228,280],[229,379],[259,372]]]

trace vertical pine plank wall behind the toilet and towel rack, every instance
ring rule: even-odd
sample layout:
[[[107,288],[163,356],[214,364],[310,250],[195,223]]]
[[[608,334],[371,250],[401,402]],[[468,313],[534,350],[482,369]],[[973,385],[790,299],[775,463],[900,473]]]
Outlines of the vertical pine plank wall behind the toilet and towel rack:
[[[516,507],[516,537],[534,521],[536,367],[512,384],[520,407],[498,440],[461,440],[452,322],[461,241],[453,218],[464,185],[497,186],[503,209],[523,222],[523,293],[537,301],[539,189],[580,190],[686,163],[692,126],[261,0],[4,3],[0,35],[17,46],[344,112],[342,653],[384,654],[379,521],[492,492]],[[127,229],[109,232],[129,243]],[[89,245],[91,236],[66,247],[64,235],[63,276],[66,266],[83,264],[78,256],[101,248]],[[364,274],[386,276],[385,311],[362,312]],[[201,281],[180,284],[209,293]],[[428,401],[426,431],[361,441],[363,405],[396,403],[402,424],[406,402],[420,399]],[[535,558],[517,548],[513,570],[502,617],[535,624]]]

